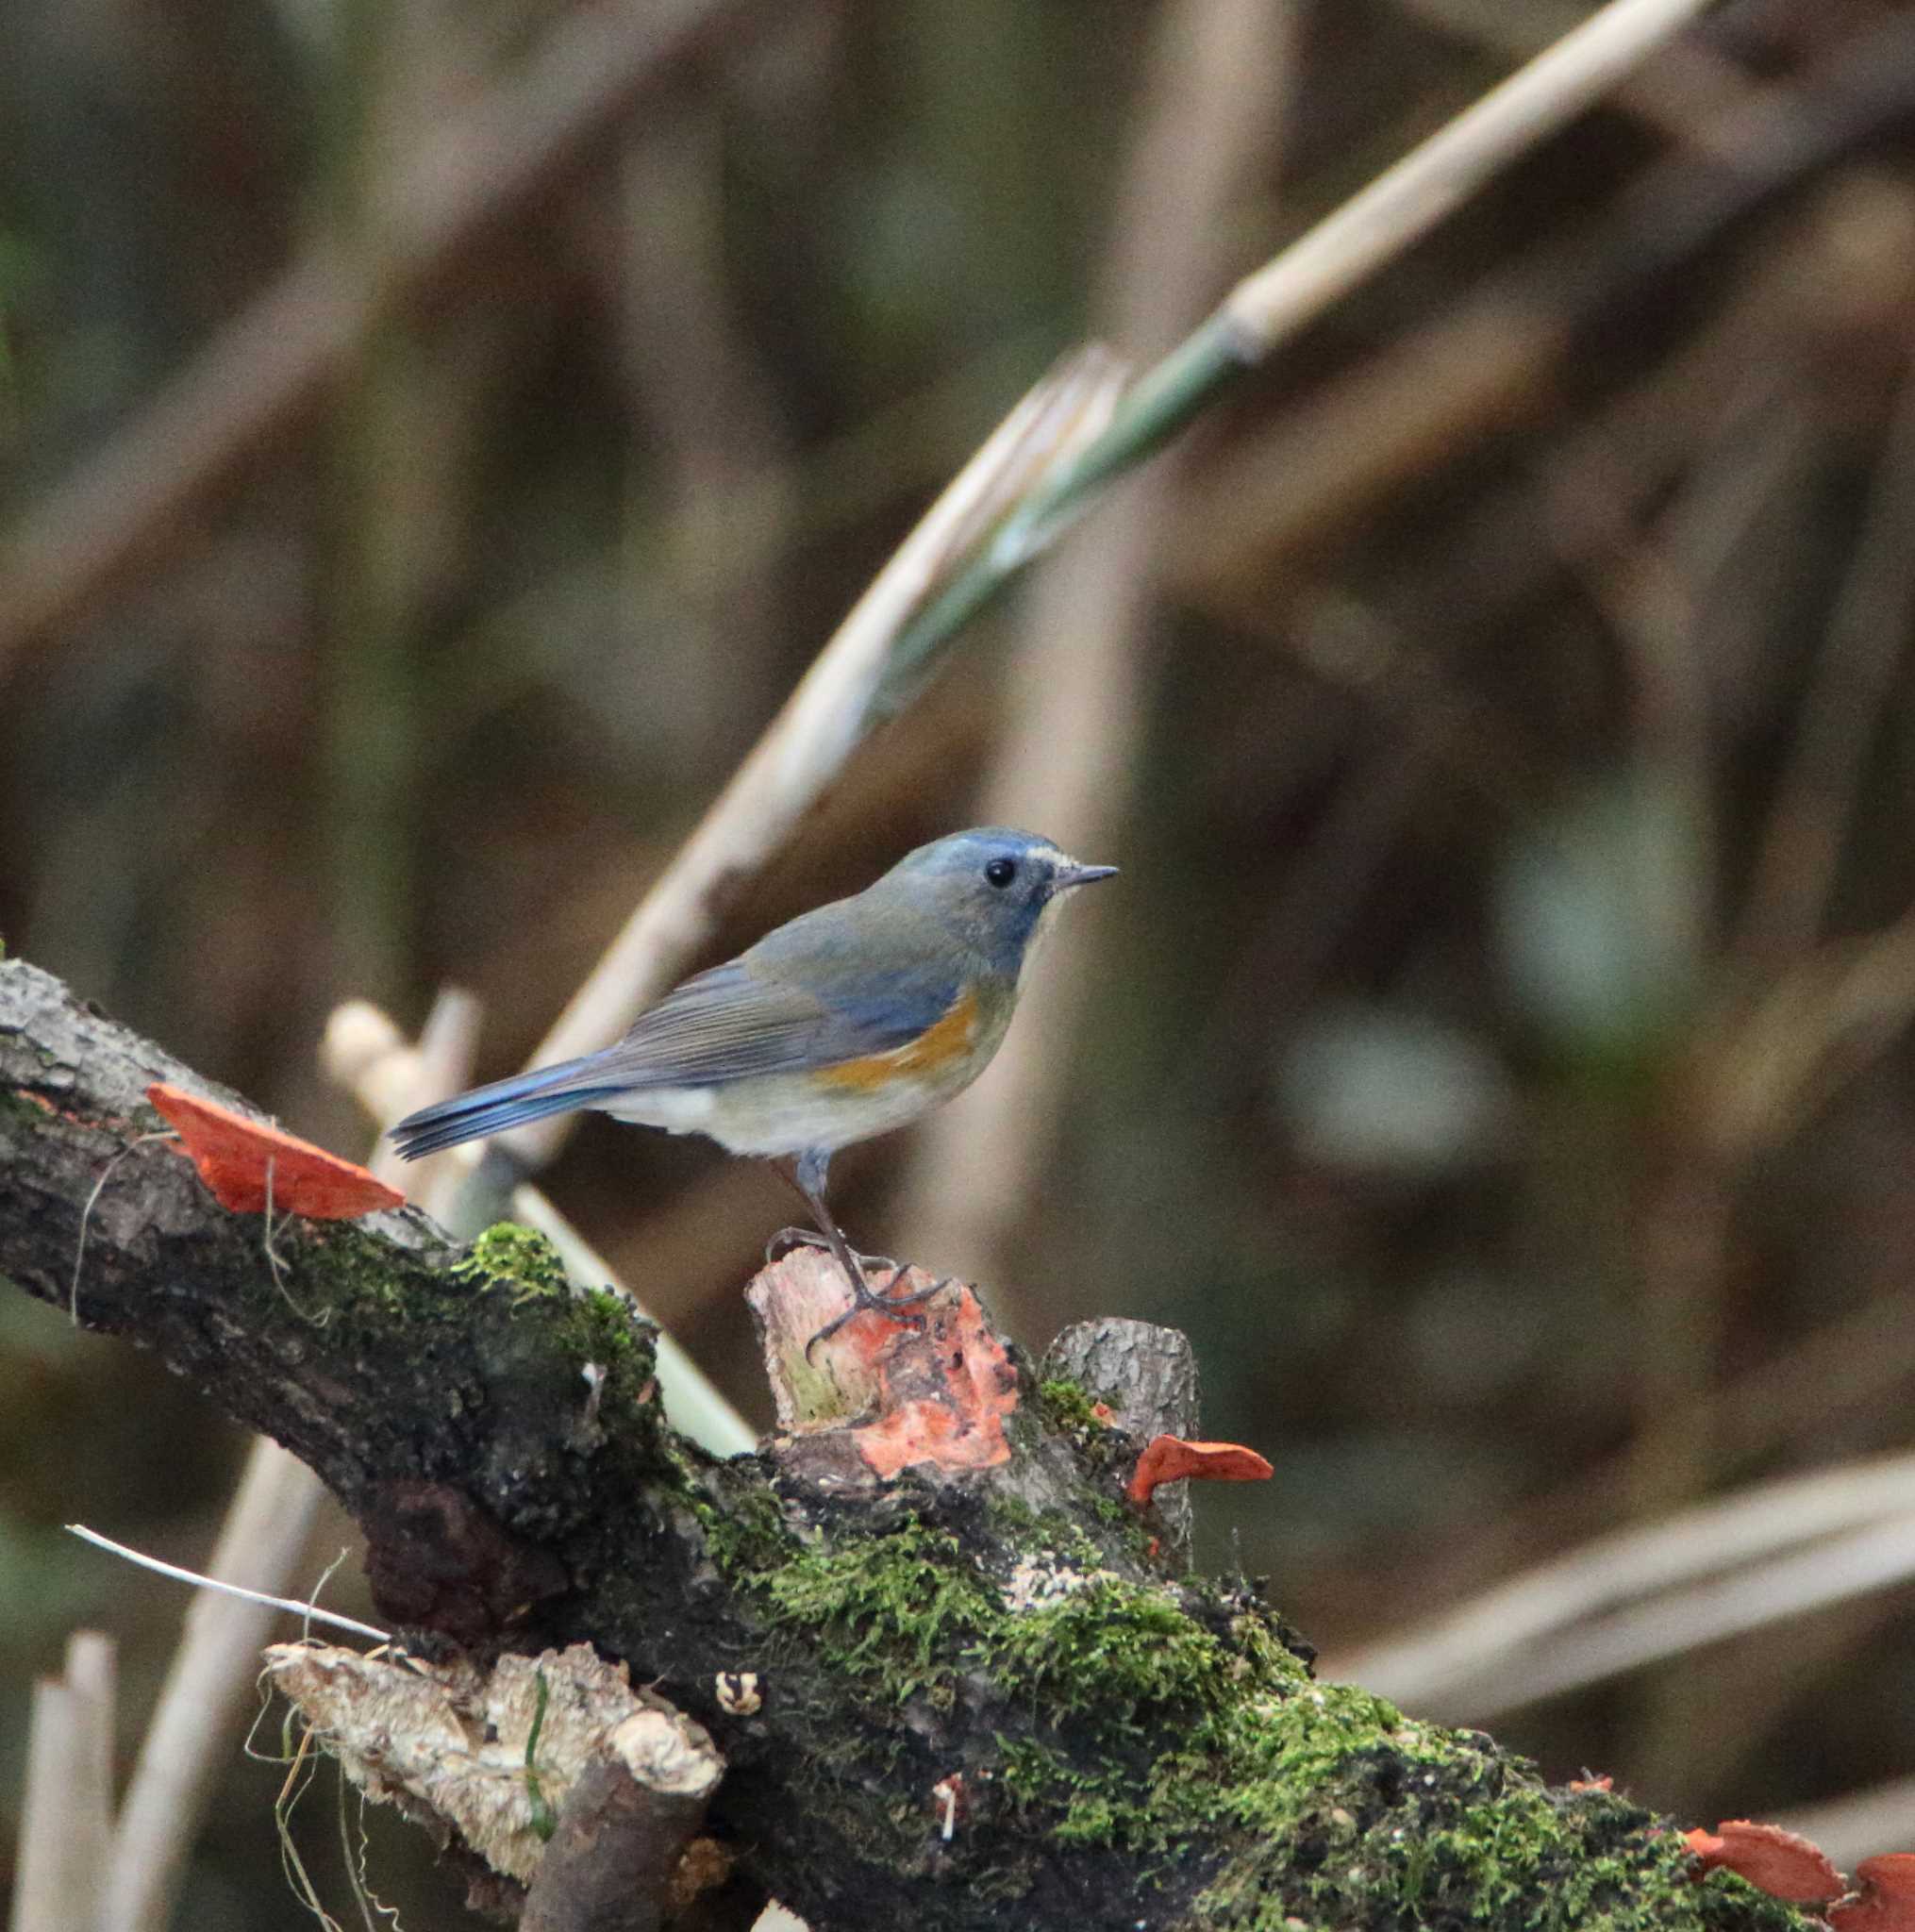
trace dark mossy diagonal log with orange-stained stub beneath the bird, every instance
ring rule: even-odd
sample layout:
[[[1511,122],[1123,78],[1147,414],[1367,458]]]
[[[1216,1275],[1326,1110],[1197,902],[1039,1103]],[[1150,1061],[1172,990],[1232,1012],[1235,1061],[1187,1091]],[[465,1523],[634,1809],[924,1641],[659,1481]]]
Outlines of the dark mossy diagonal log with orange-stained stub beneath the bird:
[[[533,1236],[390,1211],[269,1258],[143,1138],[153,1080],[213,1092],[0,962],[0,1273],[311,1463],[421,1648],[586,1642],[696,1718],[703,1830],[819,1932],[1809,1924],[1619,1795],[1316,1683],[1127,1499],[1138,1391],[1042,1379],[968,1291],[808,1362],[839,1285],[767,1269],[781,1434],[717,1463],[667,1428],[645,1323]]]

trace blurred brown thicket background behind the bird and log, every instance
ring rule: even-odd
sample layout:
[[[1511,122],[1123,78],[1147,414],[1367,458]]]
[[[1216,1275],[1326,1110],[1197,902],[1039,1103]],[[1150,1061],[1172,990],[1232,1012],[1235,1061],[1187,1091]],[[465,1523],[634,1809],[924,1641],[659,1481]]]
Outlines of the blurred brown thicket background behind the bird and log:
[[[408,162],[616,8],[0,0],[0,933],[342,1151],[334,1003],[472,987],[512,1070],[1057,350],[1161,350],[1586,8],[705,12],[421,255]],[[1911,330],[1915,15],[1731,0],[1080,529],[732,914],[999,800],[1123,866],[1022,1059],[839,1211],[1028,1345],[1185,1327],[1277,1468],[1204,1561],[1331,1652],[1909,1447]],[[767,1420],[781,1184],[599,1121],[543,1180]],[[184,1607],[60,1524],[201,1557],[238,1453],[0,1298],[0,1845],[29,1677],[89,1621],[137,1706]],[[1494,1727],[1685,1822],[1867,1789],[1915,1772],[1907,1605]],[[180,1924],[290,1920],[276,1783],[236,1764]],[[417,1862],[375,1878],[462,1922]]]

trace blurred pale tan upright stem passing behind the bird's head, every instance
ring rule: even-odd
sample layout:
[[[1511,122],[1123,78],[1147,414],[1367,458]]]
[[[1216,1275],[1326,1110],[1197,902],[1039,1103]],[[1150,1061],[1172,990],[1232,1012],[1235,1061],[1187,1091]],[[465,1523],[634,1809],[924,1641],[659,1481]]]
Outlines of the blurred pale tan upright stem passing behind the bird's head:
[[[1181,0],[1165,12],[1105,270],[1109,332],[1127,350],[1158,352],[1208,301],[1229,207],[1275,145],[1297,19],[1299,8],[1270,0]],[[982,821],[1028,825],[1090,862],[1113,856],[1140,752],[1169,491],[1163,469],[1132,479],[1040,576]],[[1067,943],[1082,951],[1090,935]],[[993,1283],[1013,1327],[1007,1250],[1043,1188],[1080,1078],[1067,1041],[1094,978],[1076,960],[1026,983],[997,1065],[962,1105],[928,1122],[912,1163],[900,1215],[912,1244]]]

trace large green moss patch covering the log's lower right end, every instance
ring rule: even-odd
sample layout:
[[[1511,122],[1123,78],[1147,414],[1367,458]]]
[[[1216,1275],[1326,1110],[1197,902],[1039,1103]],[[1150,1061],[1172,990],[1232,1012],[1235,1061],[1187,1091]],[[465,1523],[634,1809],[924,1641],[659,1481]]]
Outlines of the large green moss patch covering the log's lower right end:
[[[1277,1629],[1250,1609],[1212,1627],[1105,1582],[1013,1619],[993,1658],[1038,1723],[999,1739],[1005,1797],[1059,1845],[1156,1857],[1161,1874],[1221,1845],[1192,1932],[1807,1926],[1739,1884],[1697,1884],[1681,1837],[1625,1799],[1550,1791],[1474,1733],[1308,1681]]]

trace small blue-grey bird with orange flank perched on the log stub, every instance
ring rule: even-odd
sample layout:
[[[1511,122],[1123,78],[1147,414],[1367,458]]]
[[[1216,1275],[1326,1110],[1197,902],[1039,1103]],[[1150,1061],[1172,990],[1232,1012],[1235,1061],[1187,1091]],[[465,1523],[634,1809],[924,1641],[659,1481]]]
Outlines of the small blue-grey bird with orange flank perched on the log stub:
[[[866,1308],[897,1316],[945,1287],[910,1296],[866,1287],[864,1258],[825,1206],[831,1155],[968,1088],[1003,1041],[1065,895],[1115,871],[1030,833],[953,833],[686,980],[616,1045],[423,1107],[392,1140],[417,1159],[589,1107],[769,1155],[819,1229],[790,1233],[821,1238],[852,1285],[852,1306],[815,1347]],[[897,1287],[902,1267],[887,1265]]]

